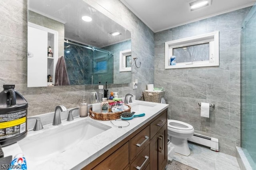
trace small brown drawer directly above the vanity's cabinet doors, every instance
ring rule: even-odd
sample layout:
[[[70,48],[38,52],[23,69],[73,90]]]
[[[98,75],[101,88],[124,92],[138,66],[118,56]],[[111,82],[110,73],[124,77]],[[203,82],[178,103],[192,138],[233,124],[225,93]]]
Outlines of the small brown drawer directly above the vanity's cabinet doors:
[[[156,120],[150,123],[150,139],[152,139],[156,133],[165,125],[167,122],[167,111],[165,110]]]

